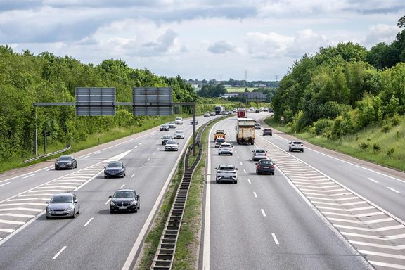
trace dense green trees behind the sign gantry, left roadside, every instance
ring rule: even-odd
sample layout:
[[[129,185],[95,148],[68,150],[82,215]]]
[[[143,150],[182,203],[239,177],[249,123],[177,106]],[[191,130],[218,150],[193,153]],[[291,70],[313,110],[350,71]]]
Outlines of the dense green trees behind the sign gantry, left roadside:
[[[76,117],[75,108],[33,107],[35,102],[75,102],[76,87],[115,87],[117,102],[132,101],[134,86],[172,86],[174,102],[197,101],[191,85],[181,77],[153,75],[132,69],[122,60],[84,65],[51,53],[19,54],[0,46],[0,160],[32,155],[35,122],[39,137],[64,144],[84,141],[90,134],[115,127],[141,125],[150,117],[132,115],[132,108],[117,108],[114,117]],[[186,110],[190,111],[189,108]],[[42,140],[38,141],[41,146]]]

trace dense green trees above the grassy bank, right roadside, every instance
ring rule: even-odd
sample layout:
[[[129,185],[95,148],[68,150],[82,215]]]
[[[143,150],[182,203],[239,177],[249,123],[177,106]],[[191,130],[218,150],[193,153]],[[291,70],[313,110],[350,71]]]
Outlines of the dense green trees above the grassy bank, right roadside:
[[[378,48],[394,56],[376,56]],[[405,30],[390,45],[368,51],[352,42],[304,55],[283,77],[273,98],[277,120],[295,131],[307,129],[335,139],[369,124],[395,125],[405,113]],[[383,65],[381,65],[384,63]]]

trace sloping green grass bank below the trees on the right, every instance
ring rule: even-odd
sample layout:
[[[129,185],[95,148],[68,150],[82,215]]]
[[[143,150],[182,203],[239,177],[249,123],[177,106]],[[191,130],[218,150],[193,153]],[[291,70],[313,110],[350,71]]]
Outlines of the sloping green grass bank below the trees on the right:
[[[391,127],[383,132],[383,127],[373,125],[365,129],[343,136],[337,140],[330,140],[323,136],[315,136],[309,132],[295,133],[289,127],[280,124],[269,117],[266,124],[285,133],[297,136],[317,146],[337,150],[361,160],[367,160],[378,165],[405,171],[405,151],[402,150],[405,143],[405,117],[396,127]]]

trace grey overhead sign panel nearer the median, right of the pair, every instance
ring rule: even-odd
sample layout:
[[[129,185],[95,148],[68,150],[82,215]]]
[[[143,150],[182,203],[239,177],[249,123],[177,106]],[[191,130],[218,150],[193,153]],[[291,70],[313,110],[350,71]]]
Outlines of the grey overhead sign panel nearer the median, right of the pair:
[[[171,87],[134,87],[134,115],[172,115]]]

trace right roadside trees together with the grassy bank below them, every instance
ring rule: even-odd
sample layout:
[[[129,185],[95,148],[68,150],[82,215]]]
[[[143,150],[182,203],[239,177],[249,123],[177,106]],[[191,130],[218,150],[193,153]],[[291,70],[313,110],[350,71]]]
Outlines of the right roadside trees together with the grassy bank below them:
[[[405,27],[405,16],[398,22]],[[380,59],[380,60],[376,60]],[[370,51],[352,42],[304,55],[272,100],[272,124],[321,146],[404,169],[405,30]]]

